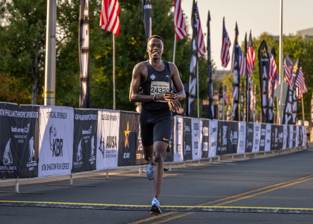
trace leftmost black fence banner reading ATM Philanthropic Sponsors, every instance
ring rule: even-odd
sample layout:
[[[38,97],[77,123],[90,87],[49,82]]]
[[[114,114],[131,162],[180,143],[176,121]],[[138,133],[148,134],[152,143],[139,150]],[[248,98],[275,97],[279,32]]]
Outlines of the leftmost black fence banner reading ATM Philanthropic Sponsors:
[[[0,104],[0,178],[38,176],[39,107]]]

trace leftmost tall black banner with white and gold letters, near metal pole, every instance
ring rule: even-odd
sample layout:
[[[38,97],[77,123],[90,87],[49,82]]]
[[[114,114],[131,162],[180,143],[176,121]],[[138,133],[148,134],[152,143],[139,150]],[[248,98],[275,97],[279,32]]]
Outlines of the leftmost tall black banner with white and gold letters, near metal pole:
[[[78,51],[81,93],[79,95],[79,107],[90,108],[90,87],[89,87],[89,4],[81,0],[79,8],[78,26]]]

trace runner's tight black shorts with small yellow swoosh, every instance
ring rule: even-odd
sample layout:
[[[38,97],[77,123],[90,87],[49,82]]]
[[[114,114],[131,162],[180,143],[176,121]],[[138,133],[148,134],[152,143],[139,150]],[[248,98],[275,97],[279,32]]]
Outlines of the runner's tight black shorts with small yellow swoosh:
[[[140,131],[142,145],[147,147],[153,145],[155,141],[170,142],[172,135],[172,114],[167,109],[151,111],[141,109],[140,111]]]

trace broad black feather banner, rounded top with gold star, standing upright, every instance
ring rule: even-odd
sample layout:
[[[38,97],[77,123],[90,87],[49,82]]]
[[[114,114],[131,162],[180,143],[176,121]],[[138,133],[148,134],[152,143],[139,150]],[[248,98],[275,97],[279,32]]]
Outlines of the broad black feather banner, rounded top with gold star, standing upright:
[[[261,88],[262,122],[269,121],[269,57],[267,55],[266,42],[263,40],[259,50],[259,72]]]

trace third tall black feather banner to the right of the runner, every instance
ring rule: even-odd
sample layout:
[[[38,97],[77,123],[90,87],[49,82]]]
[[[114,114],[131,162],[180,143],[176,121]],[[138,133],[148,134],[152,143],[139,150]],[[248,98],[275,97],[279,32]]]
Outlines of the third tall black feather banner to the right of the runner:
[[[236,22],[236,28],[235,28],[235,68],[234,68],[234,104],[232,107],[232,116],[234,120],[239,120],[238,115],[238,106],[239,106],[239,83],[240,83],[240,67],[239,67],[239,45],[238,45],[238,27]]]

